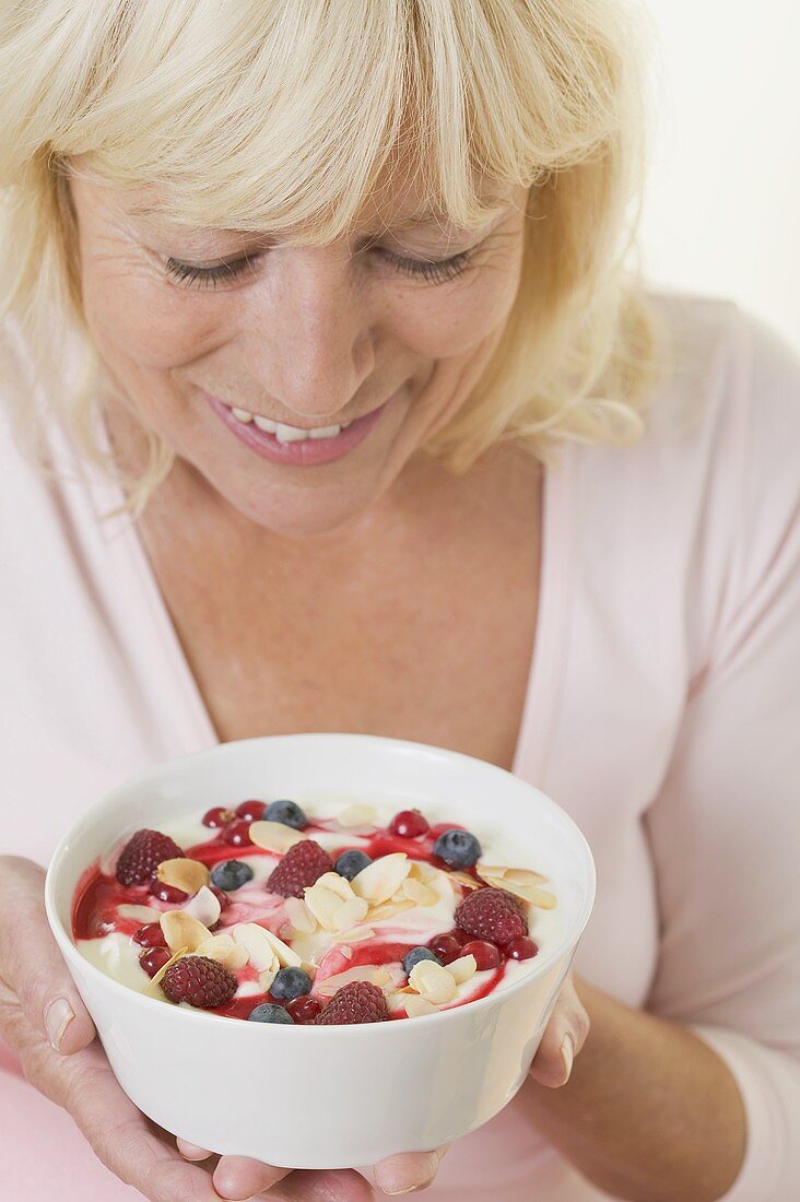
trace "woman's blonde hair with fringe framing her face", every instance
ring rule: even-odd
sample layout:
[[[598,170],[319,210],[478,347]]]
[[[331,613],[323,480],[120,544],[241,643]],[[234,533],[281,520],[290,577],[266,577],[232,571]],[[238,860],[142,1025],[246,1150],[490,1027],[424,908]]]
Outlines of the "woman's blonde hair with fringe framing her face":
[[[90,12],[87,11],[90,8]],[[0,316],[82,452],[102,364],[81,302],[67,175],[156,185],[192,226],[345,234],[402,143],[426,196],[487,215],[478,174],[529,189],[502,340],[428,450],[454,470],[500,439],[629,442],[666,365],[635,250],[650,24],[626,0],[5,0],[0,16]],[[84,369],[60,376],[59,331]],[[28,441],[45,415],[17,406]],[[170,469],[126,481],[138,508]]]

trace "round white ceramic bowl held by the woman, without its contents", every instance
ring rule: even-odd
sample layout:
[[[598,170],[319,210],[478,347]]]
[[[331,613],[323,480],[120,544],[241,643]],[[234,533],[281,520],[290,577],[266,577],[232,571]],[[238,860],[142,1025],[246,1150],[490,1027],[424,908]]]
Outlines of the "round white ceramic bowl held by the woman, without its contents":
[[[302,799],[320,791],[444,805],[454,822],[499,827],[520,849],[520,865],[557,882],[561,939],[529,974],[467,1005],[399,1022],[295,1028],[165,1005],[75,947],[77,881],[124,831],[265,792]],[[84,814],[46,882],[53,933],[129,1097],[191,1143],[288,1168],[428,1150],[497,1114],[525,1081],[593,899],[586,840],[550,798],[481,760],[358,734],[247,739],[161,764]]]

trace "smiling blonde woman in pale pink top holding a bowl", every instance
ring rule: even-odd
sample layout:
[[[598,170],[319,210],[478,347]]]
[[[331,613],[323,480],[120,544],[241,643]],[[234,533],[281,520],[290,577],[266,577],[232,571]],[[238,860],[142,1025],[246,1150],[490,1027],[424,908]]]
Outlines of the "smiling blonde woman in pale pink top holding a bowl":
[[[622,264],[636,31],[615,0],[6,0],[12,1197],[795,1196],[800,367]],[[444,1159],[176,1146],[47,932],[38,864],[105,789],[302,730],[481,756],[594,851],[531,1078]]]

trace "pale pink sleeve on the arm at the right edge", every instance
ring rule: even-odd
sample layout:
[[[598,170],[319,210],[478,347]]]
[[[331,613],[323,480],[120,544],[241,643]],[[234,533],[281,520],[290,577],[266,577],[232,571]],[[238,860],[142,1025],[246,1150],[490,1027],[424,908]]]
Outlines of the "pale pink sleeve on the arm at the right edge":
[[[711,647],[646,815],[658,880],[647,1008],[727,1063],[747,1150],[725,1202],[800,1197],[800,359],[742,314],[735,540]],[[709,546],[715,531],[707,530]]]

